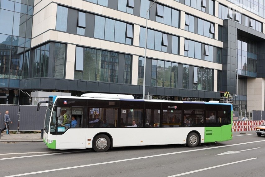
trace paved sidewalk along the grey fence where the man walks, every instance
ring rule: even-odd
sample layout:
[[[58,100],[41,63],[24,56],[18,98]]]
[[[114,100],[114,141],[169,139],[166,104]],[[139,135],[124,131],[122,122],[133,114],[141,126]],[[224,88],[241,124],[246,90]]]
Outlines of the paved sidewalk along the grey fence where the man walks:
[[[1,133],[0,142],[43,142],[40,139],[40,133],[20,133],[20,134],[10,134]]]

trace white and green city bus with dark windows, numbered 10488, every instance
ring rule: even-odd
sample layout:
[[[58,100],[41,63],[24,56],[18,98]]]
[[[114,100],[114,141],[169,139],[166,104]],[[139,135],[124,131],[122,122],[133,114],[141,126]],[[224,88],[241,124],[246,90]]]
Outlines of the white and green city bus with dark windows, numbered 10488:
[[[144,100],[103,93],[50,96],[49,101],[38,103],[38,109],[41,103],[48,103],[43,141],[51,149],[105,152],[114,147],[196,147],[232,140],[230,103]],[[69,119],[67,124],[59,122],[62,116]]]

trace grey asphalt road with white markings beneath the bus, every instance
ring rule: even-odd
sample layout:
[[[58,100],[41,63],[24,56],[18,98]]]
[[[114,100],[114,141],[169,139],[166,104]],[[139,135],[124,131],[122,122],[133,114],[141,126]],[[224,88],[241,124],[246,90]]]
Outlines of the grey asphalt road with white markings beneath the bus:
[[[0,177],[11,176],[137,176],[261,177],[265,136],[234,133],[232,141],[203,144],[51,150],[43,142],[0,143]]]

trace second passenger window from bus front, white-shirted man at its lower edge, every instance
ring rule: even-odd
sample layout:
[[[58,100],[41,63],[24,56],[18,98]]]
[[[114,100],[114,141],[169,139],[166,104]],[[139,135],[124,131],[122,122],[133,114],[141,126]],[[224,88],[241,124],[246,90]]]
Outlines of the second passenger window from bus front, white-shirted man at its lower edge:
[[[132,122],[135,121],[137,127],[142,126],[143,110],[142,109],[126,109],[121,108],[121,118],[123,118],[125,127],[132,126]]]

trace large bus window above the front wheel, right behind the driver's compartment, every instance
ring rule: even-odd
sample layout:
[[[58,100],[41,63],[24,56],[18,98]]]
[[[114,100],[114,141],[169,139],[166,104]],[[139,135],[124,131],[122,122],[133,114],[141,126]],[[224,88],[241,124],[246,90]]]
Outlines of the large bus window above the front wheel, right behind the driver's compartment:
[[[89,127],[109,128],[117,127],[117,108],[89,108]]]

